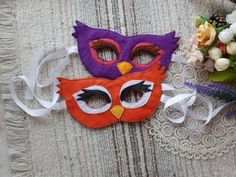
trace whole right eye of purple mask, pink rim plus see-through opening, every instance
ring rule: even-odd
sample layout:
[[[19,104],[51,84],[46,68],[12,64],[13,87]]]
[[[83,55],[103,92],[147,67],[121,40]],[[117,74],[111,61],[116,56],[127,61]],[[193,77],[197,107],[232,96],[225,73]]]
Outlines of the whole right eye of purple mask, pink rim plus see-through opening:
[[[160,61],[164,55],[164,50],[155,44],[142,42],[137,44],[132,50],[132,63],[138,68],[148,68]]]

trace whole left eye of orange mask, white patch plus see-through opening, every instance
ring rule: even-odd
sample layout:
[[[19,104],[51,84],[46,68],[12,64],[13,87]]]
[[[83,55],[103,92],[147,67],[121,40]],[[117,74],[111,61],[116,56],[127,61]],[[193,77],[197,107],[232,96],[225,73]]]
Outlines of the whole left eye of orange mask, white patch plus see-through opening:
[[[88,114],[98,114],[111,107],[111,96],[102,86],[91,86],[73,94],[82,111]]]

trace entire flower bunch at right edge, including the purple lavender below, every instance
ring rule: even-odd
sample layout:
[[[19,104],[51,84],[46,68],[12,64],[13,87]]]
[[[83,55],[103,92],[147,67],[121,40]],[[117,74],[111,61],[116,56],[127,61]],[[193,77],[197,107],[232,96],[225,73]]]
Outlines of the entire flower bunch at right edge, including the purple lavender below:
[[[225,104],[218,112],[236,103],[236,10],[226,17],[213,14],[211,17],[197,16],[194,19],[196,36],[191,39],[188,63],[200,63],[209,72],[207,85],[185,82],[198,93],[223,100]],[[214,83],[217,82],[217,83]],[[233,109],[227,116],[236,116]]]

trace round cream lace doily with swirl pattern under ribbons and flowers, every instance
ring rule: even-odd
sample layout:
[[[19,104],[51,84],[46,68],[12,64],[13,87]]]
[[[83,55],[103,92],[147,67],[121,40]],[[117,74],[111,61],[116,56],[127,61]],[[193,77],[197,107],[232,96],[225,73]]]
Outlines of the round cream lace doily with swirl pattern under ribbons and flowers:
[[[188,92],[184,82],[207,82],[207,72],[201,66],[172,63],[165,81],[181,91]],[[210,97],[209,99],[214,106],[221,103],[219,100]],[[232,106],[223,112],[228,109],[232,109]],[[206,105],[198,100],[192,110],[199,116],[207,115]],[[149,133],[167,151],[190,159],[209,159],[221,156],[236,144],[236,118],[228,118],[221,113],[207,125],[190,117],[182,124],[174,124],[167,119],[179,116],[180,113],[176,110],[164,110],[163,105],[160,105],[154,118],[146,123]]]

